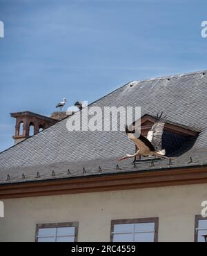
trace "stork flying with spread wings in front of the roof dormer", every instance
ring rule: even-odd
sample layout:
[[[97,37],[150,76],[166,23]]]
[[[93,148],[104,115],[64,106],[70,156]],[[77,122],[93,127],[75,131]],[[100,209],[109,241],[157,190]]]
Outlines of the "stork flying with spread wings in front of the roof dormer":
[[[128,138],[130,138],[130,140],[135,143],[138,150],[133,155],[127,154],[126,156],[123,156],[119,159],[119,161],[127,158],[133,158],[136,156],[159,156],[163,158],[168,158],[167,156],[165,156],[165,149],[161,149],[161,141],[166,118],[161,118],[161,116],[162,113],[160,116],[157,114],[154,125],[152,125],[150,131],[148,131],[147,138],[142,136],[141,134],[136,136],[135,126],[132,126],[132,130],[130,131],[128,129],[128,126],[126,125],[126,134],[128,135]]]

